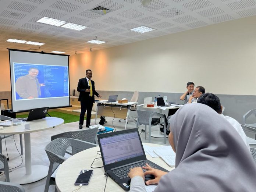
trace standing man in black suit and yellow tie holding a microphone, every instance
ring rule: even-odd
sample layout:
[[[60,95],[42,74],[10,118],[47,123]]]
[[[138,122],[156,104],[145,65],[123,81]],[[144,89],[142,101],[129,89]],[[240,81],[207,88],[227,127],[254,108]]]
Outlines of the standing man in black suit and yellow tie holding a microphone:
[[[85,111],[87,110],[86,115],[86,127],[90,126],[90,118],[92,116],[92,106],[94,103],[94,95],[101,97],[99,93],[96,92],[94,81],[92,78],[92,70],[86,70],[86,78],[79,79],[77,85],[77,91],[80,92],[78,101],[81,103],[81,113],[79,120],[79,129],[83,128],[83,120],[85,117]]]

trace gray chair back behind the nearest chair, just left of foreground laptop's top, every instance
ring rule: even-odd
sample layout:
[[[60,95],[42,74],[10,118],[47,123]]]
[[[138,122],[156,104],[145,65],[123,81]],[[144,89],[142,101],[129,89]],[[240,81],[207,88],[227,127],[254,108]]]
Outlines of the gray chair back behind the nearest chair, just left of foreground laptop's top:
[[[86,141],[90,143],[97,142],[97,132],[98,128],[94,129],[85,129],[82,131],[68,131],[61,134],[51,136],[51,141],[57,138],[72,138],[72,139],[79,139],[81,141]],[[66,153],[72,154],[72,148],[69,146],[66,150]]]

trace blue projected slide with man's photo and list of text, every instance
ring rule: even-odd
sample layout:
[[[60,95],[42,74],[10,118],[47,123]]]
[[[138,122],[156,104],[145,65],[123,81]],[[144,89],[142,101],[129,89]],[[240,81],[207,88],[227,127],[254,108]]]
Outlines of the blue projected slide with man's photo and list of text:
[[[69,96],[68,66],[13,63],[15,100]]]

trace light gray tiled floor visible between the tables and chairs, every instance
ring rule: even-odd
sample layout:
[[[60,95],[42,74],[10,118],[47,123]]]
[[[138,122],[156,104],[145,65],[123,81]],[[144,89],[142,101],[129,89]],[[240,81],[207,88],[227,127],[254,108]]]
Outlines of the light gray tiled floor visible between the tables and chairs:
[[[106,120],[108,123],[105,124],[104,126],[113,128],[113,125],[114,125],[114,127],[116,128],[117,131],[124,130],[124,126],[125,126],[124,120],[121,120],[121,122],[118,122],[119,119],[115,118],[113,121],[113,118],[111,118],[111,117],[106,117]],[[92,122],[94,122],[94,120],[92,120]],[[113,124],[112,124],[112,122],[113,122]],[[97,120],[97,123],[99,123],[99,119]],[[91,125],[92,124],[94,124],[94,123],[91,123]],[[136,127],[136,125],[132,121],[129,121],[129,123],[127,124],[127,129],[131,129],[131,128],[135,128],[135,127]],[[157,131],[158,130],[157,127],[152,127],[152,131]],[[139,132],[141,132],[142,128],[144,129],[144,125],[141,125],[139,127]],[[81,129],[81,130],[83,130],[83,129]],[[54,129],[31,133],[32,165],[49,166],[49,160],[48,160],[48,157],[45,152],[45,146],[50,142],[51,135],[56,135],[56,134],[66,132],[66,131],[77,131],[77,130],[79,130],[78,122],[72,122],[72,123],[63,124],[60,127],[57,127]],[[20,151],[19,136],[15,135],[14,138],[15,138],[15,142],[17,144],[17,148]],[[23,137],[23,139],[24,139],[24,137]],[[145,133],[142,133],[141,139],[142,139],[142,142],[148,142],[148,135],[147,135],[147,140],[145,140]],[[164,145],[163,141],[164,141],[163,138],[161,138],[161,139],[153,138],[153,137],[151,138],[151,143]],[[6,152],[4,140],[2,141],[2,143],[3,143],[3,154],[7,156],[7,152],[8,152],[8,156],[10,158],[10,160],[8,162],[9,168],[11,169],[11,168],[16,167],[19,164],[21,164],[22,160],[21,160],[21,157],[19,156],[19,153],[15,147],[13,137],[11,136],[11,137],[6,138],[7,152]],[[23,141],[23,143],[24,143],[24,141]],[[168,139],[167,139],[166,145],[169,145]],[[21,164],[20,167],[25,166],[24,154],[22,155],[22,158],[23,158],[23,163]],[[0,175],[0,181],[5,181],[5,175],[3,175],[3,173]],[[45,182],[46,182],[46,178],[41,179],[40,181],[31,183],[31,184],[22,185],[22,186],[25,188],[26,192],[42,192],[42,191],[44,191],[44,188],[45,188]],[[51,185],[49,192],[54,192],[54,188],[55,188],[55,185]]]

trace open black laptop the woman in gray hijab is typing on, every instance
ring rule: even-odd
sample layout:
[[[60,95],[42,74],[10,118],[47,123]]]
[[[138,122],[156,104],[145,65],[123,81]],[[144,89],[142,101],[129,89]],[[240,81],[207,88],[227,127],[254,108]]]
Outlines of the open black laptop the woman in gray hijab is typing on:
[[[131,179],[127,175],[130,168],[142,167],[148,163],[151,167],[169,172],[147,160],[137,128],[100,134],[97,137],[105,175],[125,190],[130,189]],[[145,180],[153,178],[153,175],[145,176]]]

